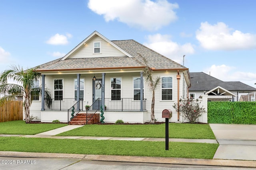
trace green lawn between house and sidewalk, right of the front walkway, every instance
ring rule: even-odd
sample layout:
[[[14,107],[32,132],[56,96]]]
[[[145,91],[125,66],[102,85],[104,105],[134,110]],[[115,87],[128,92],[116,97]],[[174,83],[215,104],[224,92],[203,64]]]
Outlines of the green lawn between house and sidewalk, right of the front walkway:
[[[160,125],[85,125],[58,135],[165,138],[165,123]],[[210,125],[189,123],[169,123],[169,137],[215,139]]]

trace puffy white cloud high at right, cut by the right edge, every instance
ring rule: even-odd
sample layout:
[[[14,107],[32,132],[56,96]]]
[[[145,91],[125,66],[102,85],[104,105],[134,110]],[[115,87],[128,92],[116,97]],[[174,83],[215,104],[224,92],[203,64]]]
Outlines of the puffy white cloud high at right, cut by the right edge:
[[[242,33],[228,27],[223,22],[210,25],[202,22],[200,29],[196,31],[196,38],[201,46],[209,50],[243,50],[256,48],[256,35]]]

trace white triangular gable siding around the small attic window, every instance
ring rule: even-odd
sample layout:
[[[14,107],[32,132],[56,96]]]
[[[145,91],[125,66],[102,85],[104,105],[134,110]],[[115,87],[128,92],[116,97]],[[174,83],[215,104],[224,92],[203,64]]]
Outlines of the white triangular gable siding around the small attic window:
[[[101,53],[94,54],[94,42],[101,42]],[[76,58],[93,58],[93,57],[121,57],[126,56],[124,53],[120,52],[118,49],[110,45],[105,40],[101,39],[99,36],[94,37],[89,43],[83,45],[76,53],[72,54],[71,59]]]

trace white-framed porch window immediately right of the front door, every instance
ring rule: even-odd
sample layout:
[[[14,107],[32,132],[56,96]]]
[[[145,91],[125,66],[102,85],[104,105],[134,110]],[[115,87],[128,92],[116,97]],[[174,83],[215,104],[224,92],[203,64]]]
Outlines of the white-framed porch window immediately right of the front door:
[[[111,100],[121,100],[121,78],[111,78]]]

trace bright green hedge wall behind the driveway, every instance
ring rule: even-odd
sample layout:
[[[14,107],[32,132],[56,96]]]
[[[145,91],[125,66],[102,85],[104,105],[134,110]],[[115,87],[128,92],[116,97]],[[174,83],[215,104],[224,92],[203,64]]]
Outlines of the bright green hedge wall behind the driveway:
[[[256,124],[256,102],[208,102],[208,123]]]

